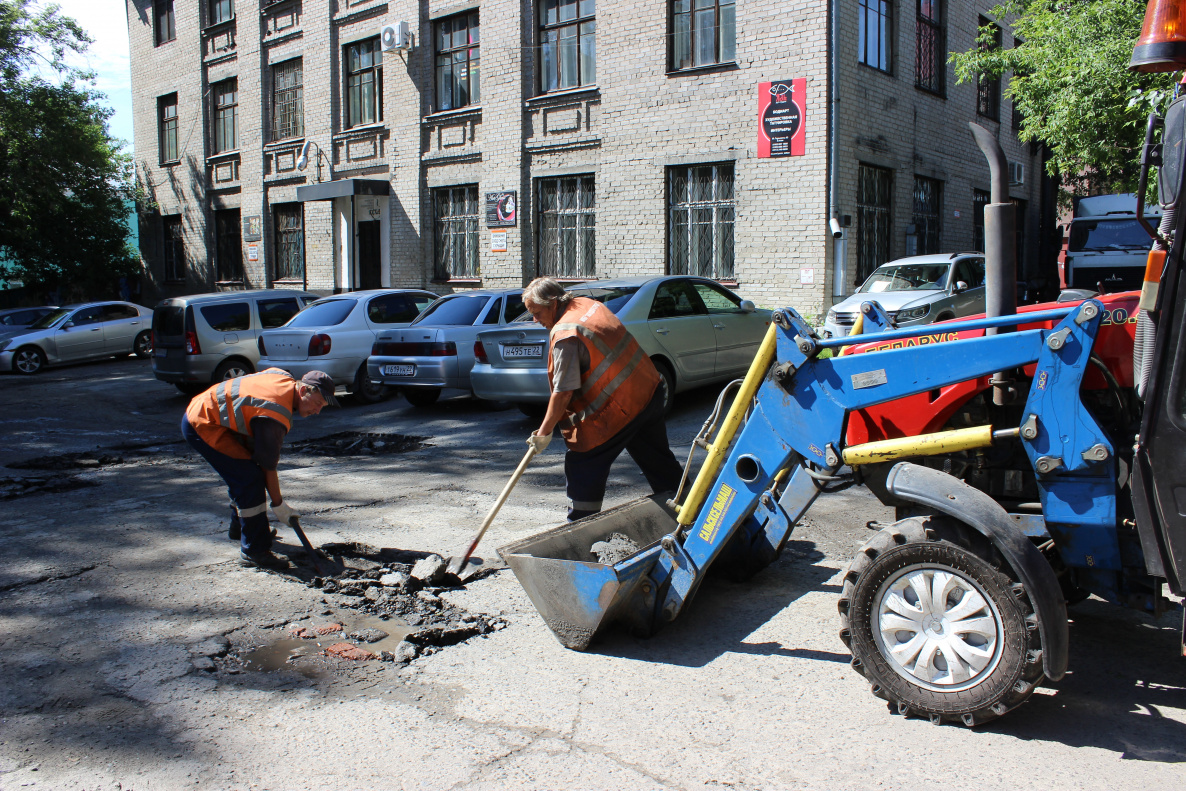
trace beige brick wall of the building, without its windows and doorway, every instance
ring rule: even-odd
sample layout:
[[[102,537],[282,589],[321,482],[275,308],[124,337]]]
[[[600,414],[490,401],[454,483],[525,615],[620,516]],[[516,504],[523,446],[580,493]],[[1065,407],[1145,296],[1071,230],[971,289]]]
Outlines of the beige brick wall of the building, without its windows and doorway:
[[[127,0],[132,40],[138,173],[162,215],[183,213],[189,279],[162,282],[159,225],[146,227],[145,254],[158,293],[215,287],[211,211],[238,208],[264,219],[260,261],[243,260],[247,285],[270,285],[274,261],[272,206],[295,200],[296,189],[317,181],[317,157],[296,171],[301,145],[312,141],[323,160],[321,179],[384,179],[390,183],[384,281],[438,291],[476,283],[433,283],[432,190],[477,184],[485,192],[517,190],[518,225],[505,253],[490,251],[480,231],[482,286],[518,286],[537,270],[534,189],[541,177],[592,173],[597,184],[597,276],[667,270],[667,172],[671,166],[733,162],[737,289],[765,306],[791,305],[818,314],[833,302],[833,241],[828,234],[828,14],[804,0],[738,4],[735,65],[667,72],[668,19],[663,2],[599,0],[597,87],[538,95],[537,20],[531,0],[486,0],[482,14],[480,106],[434,113],[433,23],[478,7],[465,0],[283,0],[256,12],[240,0],[238,15],[205,26],[199,0],[174,0],[177,40],[153,45],[151,0]],[[967,49],[977,13],[991,2],[951,4],[948,49]],[[988,189],[988,166],[968,130],[975,85],[956,85],[948,66],[945,97],[914,88],[914,4],[897,8],[894,65],[890,74],[857,64],[857,2],[841,4],[837,43],[840,85],[839,210],[848,229],[848,283],[856,268],[856,174],[860,162],[894,173],[891,257],[906,251],[913,177],[943,181],[942,249],[968,249],[973,238],[971,194]],[[416,32],[410,52],[385,52],[382,120],[347,129],[344,117],[343,47],[407,20]],[[1010,43],[1008,32],[1006,44]],[[305,135],[274,141],[270,134],[270,68],[304,62]],[[211,155],[210,83],[238,79],[237,154]],[[804,157],[757,158],[758,84],[805,78]],[[179,97],[181,162],[158,162],[157,97]],[[997,133],[1009,159],[1026,164],[1027,184],[1013,197],[1028,202],[1026,229],[1038,230],[1040,167],[1013,133],[1010,107]],[[234,160],[237,178],[227,179]],[[959,212],[956,217],[955,213]],[[338,236],[346,232],[345,225]],[[336,264],[332,206],[305,204],[306,275],[310,288],[347,287],[350,273]],[[338,253],[336,253],[336,247]],[[1035,245],[1029,245],[1031,248]],[[1032,254],[1032,253],[1031,253]],[[805,278],[810,270],[812,278]],[[809,281],[810,282],[806,282]]]

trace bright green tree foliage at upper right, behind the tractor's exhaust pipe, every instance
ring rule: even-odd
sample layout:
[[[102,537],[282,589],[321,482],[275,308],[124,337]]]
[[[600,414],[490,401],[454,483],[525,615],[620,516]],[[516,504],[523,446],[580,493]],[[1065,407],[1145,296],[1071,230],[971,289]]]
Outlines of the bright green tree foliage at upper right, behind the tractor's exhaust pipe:
[[[1064,187],[1134,192],[1150,110],[1163,110],[1175,77],[1128,70],[1146,0],[1007,0],[1013,47],[981,28],[977,47],[952,52],[959,82],[1012,72],[1006,95],[1021,113],[1019,136],[1044,142]]]

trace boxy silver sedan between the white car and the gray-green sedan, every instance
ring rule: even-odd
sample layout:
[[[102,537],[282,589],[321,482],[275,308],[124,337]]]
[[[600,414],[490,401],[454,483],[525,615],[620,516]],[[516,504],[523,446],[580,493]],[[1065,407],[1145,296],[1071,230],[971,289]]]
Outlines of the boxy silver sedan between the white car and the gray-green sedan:
[[[434,403],[446,388],[468,391],[478,333],[523,313],[522,288],[441,296],[406,330],[380,333],[366,361],[370,377],[398,385],[415,407]]]

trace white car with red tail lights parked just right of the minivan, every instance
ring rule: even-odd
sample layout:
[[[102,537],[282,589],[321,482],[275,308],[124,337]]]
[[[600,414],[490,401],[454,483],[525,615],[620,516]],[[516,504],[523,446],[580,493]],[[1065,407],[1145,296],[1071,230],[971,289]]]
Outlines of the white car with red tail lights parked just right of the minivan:
[[[406,327],[436,294],[382,288],[323,296],[276,330],[260,333],[259,369],[279,368],[300,378],[325,371],[356,398],[374,403],[387,388],[366,375],[366,357],[381,330]]]

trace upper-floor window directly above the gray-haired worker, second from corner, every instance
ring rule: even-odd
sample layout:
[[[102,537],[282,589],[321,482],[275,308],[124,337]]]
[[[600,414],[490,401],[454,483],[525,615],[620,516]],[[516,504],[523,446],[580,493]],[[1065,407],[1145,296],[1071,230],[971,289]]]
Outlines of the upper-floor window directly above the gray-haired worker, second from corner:
[[[594,0],[542,0],[540,4],[540,89],[597,82]]]

